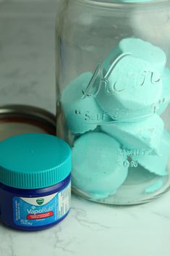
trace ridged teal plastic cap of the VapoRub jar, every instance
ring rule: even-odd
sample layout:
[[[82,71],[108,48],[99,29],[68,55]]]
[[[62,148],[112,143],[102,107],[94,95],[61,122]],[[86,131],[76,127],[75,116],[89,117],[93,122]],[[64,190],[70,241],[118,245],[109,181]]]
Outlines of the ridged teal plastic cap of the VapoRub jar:
[[[0,182],[17,189],[42,189],[71,172],[71,149],[56,136],[12,136],[0,143]]]

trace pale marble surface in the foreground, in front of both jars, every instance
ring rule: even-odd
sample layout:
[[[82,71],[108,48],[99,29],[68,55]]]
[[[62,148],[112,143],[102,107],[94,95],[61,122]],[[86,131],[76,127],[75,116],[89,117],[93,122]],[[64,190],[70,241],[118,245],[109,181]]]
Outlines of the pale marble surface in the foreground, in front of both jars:
[[[71,212],[54,228],[25,233],[0,225],[0,255],[169,256],[169,200],[111,207],[73,196]]]

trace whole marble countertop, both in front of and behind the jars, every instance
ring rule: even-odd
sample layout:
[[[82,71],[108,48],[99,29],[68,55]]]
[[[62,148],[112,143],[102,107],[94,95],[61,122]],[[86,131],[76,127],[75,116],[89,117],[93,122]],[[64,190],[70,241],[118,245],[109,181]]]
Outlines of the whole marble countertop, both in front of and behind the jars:
[[[0,0],[0,101],[55,112],[57,1]],[[98,205],[72,195],[72,209],[46,231],[0,224],[1,256],[169,256],[170,193],[146,205]]]

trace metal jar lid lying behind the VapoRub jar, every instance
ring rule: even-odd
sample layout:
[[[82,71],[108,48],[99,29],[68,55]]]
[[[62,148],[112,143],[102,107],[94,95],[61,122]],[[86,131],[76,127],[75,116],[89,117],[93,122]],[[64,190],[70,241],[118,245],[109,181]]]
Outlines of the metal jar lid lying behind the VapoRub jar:
[[[0,107],[0,141],[20,133],[56,135],[56,117],[46,110],[27,105]]]

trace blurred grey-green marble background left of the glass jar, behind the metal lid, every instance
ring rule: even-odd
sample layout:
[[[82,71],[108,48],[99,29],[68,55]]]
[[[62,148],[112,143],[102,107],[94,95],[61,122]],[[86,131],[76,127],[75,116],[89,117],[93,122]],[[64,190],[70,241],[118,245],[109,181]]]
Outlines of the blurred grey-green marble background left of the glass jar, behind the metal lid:
[[[55,112],[57,2],[0,3],[0,104],[30,104]]]

